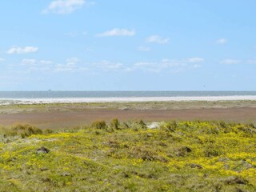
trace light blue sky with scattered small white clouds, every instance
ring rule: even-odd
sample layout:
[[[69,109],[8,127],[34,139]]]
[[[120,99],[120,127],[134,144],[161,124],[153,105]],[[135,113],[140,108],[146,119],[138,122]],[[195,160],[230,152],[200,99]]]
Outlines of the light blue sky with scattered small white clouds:
[[[255,0],[0,2],[0,90],[256,90]]]

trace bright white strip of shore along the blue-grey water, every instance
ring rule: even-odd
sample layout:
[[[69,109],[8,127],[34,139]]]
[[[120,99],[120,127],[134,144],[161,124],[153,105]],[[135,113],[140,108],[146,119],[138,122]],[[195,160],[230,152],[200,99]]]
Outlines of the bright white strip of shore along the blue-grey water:
[[[256,100],[256,95],[200,97],[133,97],[133,98],[0,98],[0,105],[78,102],[182,102]]]

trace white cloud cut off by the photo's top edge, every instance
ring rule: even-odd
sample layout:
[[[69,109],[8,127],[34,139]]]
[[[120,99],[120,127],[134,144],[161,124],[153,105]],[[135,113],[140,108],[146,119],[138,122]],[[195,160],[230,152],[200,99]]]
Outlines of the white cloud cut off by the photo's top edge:
[[[85,0],[55,0],[50,2],[50,5],[42,10],[42,13],[70,14],[81,8],[85,3]]]

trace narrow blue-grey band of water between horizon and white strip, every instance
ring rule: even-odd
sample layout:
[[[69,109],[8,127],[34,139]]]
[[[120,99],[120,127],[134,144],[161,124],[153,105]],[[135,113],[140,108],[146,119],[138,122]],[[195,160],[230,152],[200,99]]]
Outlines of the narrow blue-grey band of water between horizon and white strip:
[[[1,98],[155,98],[256,96],[256,91],[0,91]]]

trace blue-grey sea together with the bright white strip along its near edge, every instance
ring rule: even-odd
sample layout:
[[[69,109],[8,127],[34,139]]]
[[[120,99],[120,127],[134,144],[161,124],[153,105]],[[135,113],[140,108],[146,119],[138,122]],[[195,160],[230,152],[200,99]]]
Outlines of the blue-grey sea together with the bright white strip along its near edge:
[[[256,100],[256,91],[0,91],[0,105]]]

